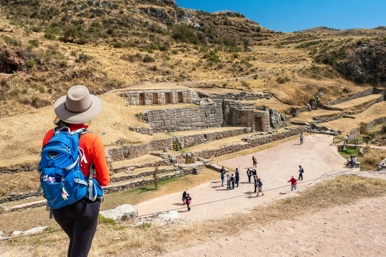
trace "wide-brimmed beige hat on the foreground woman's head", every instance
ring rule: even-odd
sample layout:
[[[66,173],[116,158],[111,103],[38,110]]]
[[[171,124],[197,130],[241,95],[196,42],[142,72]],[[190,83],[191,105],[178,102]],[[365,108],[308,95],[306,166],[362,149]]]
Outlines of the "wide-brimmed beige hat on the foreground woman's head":
[[[70,124],[79,124],[98,116],[102,107],[101,98],[90,94],[87,87],[76,85],[68,89],[67,95],[55,102],[54,111],[61,120]]]

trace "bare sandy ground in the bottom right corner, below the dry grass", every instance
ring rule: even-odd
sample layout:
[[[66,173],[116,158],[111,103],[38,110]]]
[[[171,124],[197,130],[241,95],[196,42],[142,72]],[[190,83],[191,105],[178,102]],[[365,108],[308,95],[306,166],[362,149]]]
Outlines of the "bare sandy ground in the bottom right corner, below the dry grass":
[[[364,199],[164,256],[384,256],[385,206],[386,197]]]

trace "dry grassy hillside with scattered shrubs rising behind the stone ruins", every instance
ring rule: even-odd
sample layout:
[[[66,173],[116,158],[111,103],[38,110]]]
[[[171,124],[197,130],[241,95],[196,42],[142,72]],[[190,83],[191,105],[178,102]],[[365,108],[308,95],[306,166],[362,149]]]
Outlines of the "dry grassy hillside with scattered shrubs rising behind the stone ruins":
[[[140,82],[270,91],[291,105],[323,91],[327,101],[370,86],[342,79],[339,63],[358,42],[386,36],[380,28],[280,33],[171,0],[0,4],[0,117],[51,105],[74,84],[96,94]]]

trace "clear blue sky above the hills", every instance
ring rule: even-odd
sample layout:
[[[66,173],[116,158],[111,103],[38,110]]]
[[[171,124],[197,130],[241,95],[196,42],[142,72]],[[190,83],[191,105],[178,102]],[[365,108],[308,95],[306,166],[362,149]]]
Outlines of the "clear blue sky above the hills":
[[[271,30],[293,32],[325,26],[370,29],[386,26],[386,0],[176,0],[206,12],[236,11]]]

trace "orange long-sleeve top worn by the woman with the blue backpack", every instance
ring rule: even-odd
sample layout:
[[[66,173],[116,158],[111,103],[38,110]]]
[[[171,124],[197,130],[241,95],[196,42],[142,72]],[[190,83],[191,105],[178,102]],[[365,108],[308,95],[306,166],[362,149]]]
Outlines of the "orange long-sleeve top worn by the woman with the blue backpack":
[[[69,124],[71,131],[75,131],[81,128],[87,130],[88,126],[84,124]],[[52,136],[54,136],[54,130],[50,130],[46,133],[43,139],[43,147],[47,144]],[[110,171],[107,167],[107,161],[105,156],[105,147],[103,146],[101,138],[93,133],[85,133],[80,137],[79,147],[83,149],[84,156],[87,163],[83,161],[80,163],[80,170],[83,175],[88,177],[90,175],[89,169],[91,162],[95,166],[94,178],[98,181],[99,185],[107,186],[110,183]]]

